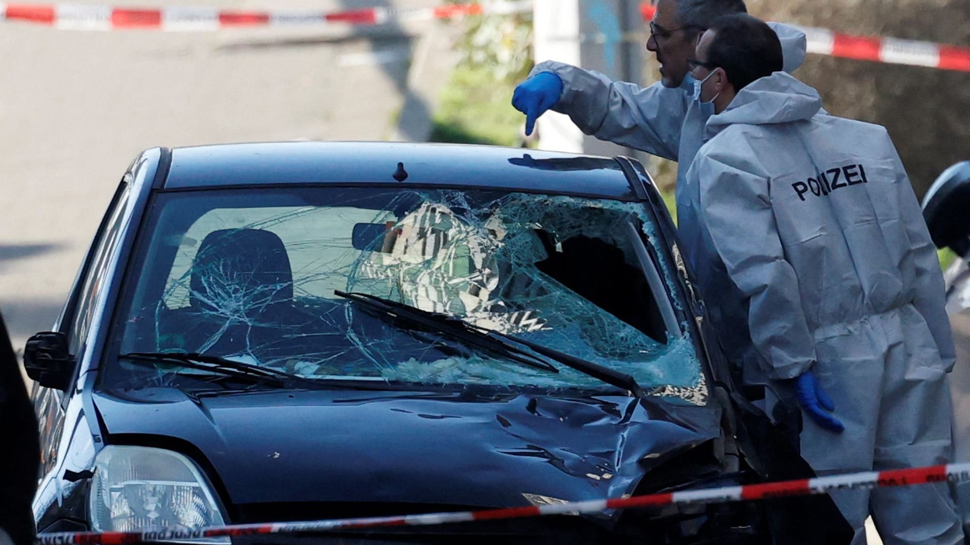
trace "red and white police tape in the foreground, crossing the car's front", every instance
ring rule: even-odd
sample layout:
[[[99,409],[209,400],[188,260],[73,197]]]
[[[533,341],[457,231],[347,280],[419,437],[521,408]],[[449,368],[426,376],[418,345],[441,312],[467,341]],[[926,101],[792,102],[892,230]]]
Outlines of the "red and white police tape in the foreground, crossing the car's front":
[[[368,529],[378,527],[434,526],[473,521],[494,521],[539,517],[543,515],[568,515],[576,513],[599,513],[606,509],[629,509],[635,507],[659,507],[676,503],[713,503],[751,499],[770,499],[772,497],[808,496],[824,494],[836,490],[871,489],[881,487],[913,486],[944,481],[970,481],[970,463],[934,465],[889,471],[866,471],[847,475],[832,475],[814,479],[799,479],[777,483],[743,485],[683,492],[651,494],[646,496],[621,497],[616,499],[596,499],[571,501],[550,505],[530,507],[511,507],[484,511],[463,511],[456,513],[429,513],[399,517],[373,517],[360,519],[321,520],[302,523],[275,523],[253,525],[230,525],[194,530],[149,530],[149,531],[106,531],[106,532],[64,532],[40,534],[37,545],[122,545],[144,541],[173,541],[198,539],[201,537],[241,536],[269,533],[299,533],[308,531],[327,531],[333,529]]]

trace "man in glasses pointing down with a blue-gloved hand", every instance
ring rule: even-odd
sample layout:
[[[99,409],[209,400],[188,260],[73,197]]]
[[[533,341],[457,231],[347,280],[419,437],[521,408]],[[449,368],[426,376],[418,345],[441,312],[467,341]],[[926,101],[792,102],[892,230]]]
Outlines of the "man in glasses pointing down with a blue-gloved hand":
[[[677,226],[682,249],[690,258],[699,243],[695,210],[684,198],[684,175],[702,142],[709,104],[695,100],[695,80],[687,59],[697,39],[717,17],[746,13],[744,0],[659,0],[650,21],[647,49],[661,63],[662,80],[648,87],[611,81],[598,72],[560,62],[537,65],[512,97],[512,106],[526,114],[526,134],[535,119],[552,109],[566,113],[584,133],[599,140],[640,149],[674,160],[677,166]],[[785,53],[785,70],[805,60],[805,35],[772,23]]]

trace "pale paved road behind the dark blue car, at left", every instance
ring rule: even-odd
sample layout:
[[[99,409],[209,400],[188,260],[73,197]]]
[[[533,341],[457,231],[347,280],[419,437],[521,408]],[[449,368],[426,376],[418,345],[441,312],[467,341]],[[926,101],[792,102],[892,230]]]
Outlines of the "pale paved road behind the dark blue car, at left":
[[[268,0],[123,4],[284,7]],[[435,4],[288,0],[285,7]],[[14,22],[0,28],[0,308],[18,346],[49,329],[113,188],[140,150],[386,140],[405,100],[425,108],[407,88],[406,67],[419,40],[394,29],[374,37],[350,28],[168,34]]]

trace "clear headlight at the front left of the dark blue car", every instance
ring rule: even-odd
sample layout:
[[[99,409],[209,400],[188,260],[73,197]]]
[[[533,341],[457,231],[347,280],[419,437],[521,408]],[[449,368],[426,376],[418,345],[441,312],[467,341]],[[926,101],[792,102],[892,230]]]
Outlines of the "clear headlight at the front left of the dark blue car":
[[[177,452],[109,445],[98,453],[94,466],[91,525],[97,531],[193,530],[225,524],[209,481]]]

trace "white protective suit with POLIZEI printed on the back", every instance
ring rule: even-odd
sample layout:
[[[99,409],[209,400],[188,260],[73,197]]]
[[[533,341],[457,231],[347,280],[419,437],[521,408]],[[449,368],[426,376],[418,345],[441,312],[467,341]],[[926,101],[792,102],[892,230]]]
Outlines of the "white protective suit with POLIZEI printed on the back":
[[[820,475],[946,464],[955,356],[936,250],[886,129],[821,109],[778,72],[708,120],[685,184],[700,293],[746,352],[746,382],[786,398],[781,379],[818,375],[845,424],[803,418],[801,453]],[[870,502],[887,545],[962,543],[946,483],[832,497],[854,543]]]

